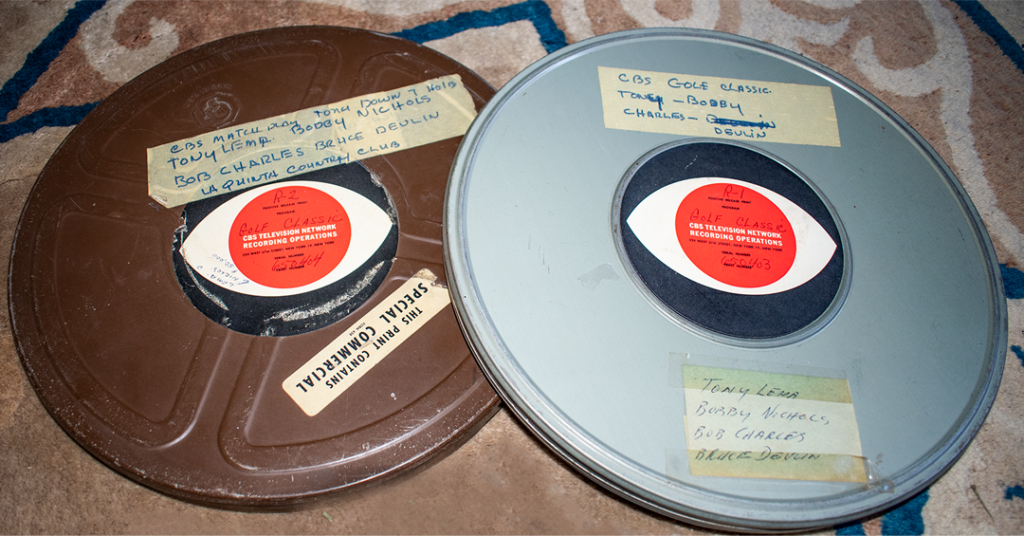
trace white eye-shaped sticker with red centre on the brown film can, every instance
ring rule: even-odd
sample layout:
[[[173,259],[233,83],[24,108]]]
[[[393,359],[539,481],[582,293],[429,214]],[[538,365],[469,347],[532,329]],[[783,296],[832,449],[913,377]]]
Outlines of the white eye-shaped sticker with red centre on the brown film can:
[[[210,282],[250,296],[292,296],[348,276],[380,248],[393,223],[369,199],[318,181],[246,192],[188,235],[181,256]]]

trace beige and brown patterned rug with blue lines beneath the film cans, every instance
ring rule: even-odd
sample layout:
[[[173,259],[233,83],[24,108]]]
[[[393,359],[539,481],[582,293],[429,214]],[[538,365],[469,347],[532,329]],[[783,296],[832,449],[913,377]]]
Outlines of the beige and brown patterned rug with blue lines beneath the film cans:
[[[5,0],[0,269],[36,177],[72,127],[164,59],[263,28],[366,28],[501,87],[609,32],[714,29],[799,52],[878,95],[957,174],[1001,265],[1010,343],[986,423],[930,489],[836,534],[1024,533],[1024,4],[1019,0]],[[940,289],[936,290],[940,292]],[[289,513],[212,510],[123,479],[43,410],[0,307],[0,511],[12,534],[699,534],[579,477],[502,410],[444,460]],[[833,531],[825,531],[831,533]]]

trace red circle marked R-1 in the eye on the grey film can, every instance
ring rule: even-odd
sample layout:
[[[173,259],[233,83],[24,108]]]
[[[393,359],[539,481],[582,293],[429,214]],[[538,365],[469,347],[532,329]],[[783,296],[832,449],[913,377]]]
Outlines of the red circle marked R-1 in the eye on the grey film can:
[[[697,269],[734,287],[775,283],[797,256],[797,240],[782,210],[739,184],[719,182],[690,192],[676,210],[676,237]]]

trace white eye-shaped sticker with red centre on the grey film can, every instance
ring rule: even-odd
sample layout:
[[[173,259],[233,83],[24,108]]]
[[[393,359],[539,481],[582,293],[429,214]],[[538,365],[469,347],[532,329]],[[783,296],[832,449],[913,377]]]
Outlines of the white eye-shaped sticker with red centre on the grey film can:
[[[784,292],[831,259],[836,242],[802,208],[757,184],[681,180],[643,199],[627,218],[651,254],[689,280],[743,295]]]

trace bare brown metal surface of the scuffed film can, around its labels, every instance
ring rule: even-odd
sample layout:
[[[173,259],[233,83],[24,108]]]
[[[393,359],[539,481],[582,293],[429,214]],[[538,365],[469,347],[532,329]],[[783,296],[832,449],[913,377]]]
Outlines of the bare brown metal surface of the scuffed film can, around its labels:
[[[410,41],[287,28],[176,55],[97,106],[42,171],[11,258],[17,348],[54,420],[114,470],[228,508],[281,508],[380,482],[482,426],[498,398],[451,306],[315,416],[282,388],[419,271],[443,284],[440,200],[460,138],[360,163],[391,196],[396,252],[357,308],[299,335],[244,334],[200,313],[175,277],[182,210],[147,196],[147,148],[449,74],[478,109],[494,92]]]

